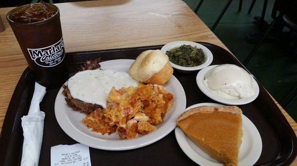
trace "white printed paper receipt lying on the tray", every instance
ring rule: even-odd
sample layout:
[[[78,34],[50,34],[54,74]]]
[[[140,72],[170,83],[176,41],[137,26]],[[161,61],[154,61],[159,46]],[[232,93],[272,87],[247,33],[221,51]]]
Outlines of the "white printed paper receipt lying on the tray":
[[[91,166],[89,147],[80,143],[52,146],[50,166]]]

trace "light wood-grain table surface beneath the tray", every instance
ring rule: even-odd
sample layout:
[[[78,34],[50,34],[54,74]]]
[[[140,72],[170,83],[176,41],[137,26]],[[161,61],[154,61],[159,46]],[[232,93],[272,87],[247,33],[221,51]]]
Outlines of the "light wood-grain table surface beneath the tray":
[[[56,5],[60,9],[66,52],[158,45],[175,40],[209,42],[227,49],[182,0],[96,0]],[[6,28],[0,33],[0,131],[14,88],[27,67],[5,18],[11,9],[0,8]],[[296,122],[277,105],[297,133]]]

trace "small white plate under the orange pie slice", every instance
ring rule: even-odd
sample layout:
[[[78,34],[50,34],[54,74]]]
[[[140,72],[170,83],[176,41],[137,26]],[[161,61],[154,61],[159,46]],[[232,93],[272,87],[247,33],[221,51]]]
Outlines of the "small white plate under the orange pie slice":
[[[222,106],[217,103],[199,103],[188,107],[189,110],[202,105]],[[254,165],[262,152],[262,140],[255,125],[242,114],[242,129],[244,135],[238,155],[238,166]],[[180,129],[175,128],[175,137],[185,154],[200,166],[224,166],[201,150],[188,136]]]

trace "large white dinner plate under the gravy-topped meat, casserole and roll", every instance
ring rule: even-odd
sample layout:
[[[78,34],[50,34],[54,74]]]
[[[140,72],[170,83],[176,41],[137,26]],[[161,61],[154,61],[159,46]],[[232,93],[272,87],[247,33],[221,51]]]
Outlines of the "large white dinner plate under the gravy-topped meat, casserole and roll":
[[[128,72],[129,66],[134,60],[112,60],[99,63],[101,69],[117,69]],[[167,92],[174,95],[173,105],[166,114],[163,122],[157,125],[157,130],[146,135],[139,135],[133,139],[120,139],[117,133],[111,135],[92,132],[82,122],[86,114],[74,111],[65,103],[65,97],[62,95],[63,88],[57,94],[54,111],[58,124],[62,130],[74,140],[97,149],[104,150],[129,150],[149,145],[170,133],[176,127],[177,117],[186,108],[185,91],[176,79],[172,76],[168,83],[164,85]]]

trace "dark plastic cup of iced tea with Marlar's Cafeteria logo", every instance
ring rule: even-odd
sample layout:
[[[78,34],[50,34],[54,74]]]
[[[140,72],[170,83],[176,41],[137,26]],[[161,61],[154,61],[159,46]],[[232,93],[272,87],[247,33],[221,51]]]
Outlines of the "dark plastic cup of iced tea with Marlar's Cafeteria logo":
[[[60,87],[68,72],[58,7],[27,4],[12,9],[6,18],[37,82],[49,89]]]

